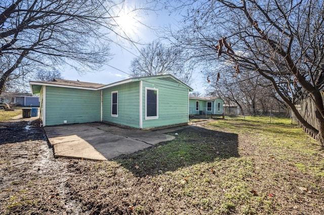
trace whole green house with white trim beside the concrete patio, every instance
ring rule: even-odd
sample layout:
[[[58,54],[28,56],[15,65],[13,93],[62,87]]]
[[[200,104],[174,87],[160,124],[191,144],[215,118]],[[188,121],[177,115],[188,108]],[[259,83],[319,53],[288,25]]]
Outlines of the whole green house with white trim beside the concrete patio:
[[[107,85],[54,79],[31,81],[30,87],[39,94],[43,126],[107,122],[148,129],[188,123],[192,88],[172,75]]]

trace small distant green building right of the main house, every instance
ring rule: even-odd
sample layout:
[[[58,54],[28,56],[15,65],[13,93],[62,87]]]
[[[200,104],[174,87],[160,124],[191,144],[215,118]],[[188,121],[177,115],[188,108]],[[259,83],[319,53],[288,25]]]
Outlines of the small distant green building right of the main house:
[[[189,115],[223,114],[223,99],[220,97],[189,96]]]

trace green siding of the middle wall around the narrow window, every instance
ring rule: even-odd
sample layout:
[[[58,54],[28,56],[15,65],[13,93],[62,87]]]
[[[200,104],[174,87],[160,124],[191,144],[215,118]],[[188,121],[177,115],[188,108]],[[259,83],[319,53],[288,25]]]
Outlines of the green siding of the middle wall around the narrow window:
[[[118,117],[111,116],[111,92],[118,91]],[[139,81],[103,89],[102,120],[105,122],[139,128]]]

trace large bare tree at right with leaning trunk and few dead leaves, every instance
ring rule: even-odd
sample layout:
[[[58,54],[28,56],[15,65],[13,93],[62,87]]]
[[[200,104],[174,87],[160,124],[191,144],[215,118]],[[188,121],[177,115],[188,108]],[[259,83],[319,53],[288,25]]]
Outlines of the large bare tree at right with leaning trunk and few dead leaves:
[[[189,1],[190,2],[190,1]],[[188,3],[188,2],[186,2]],[[193,57],[260,75],[324,148],[324,4],[322,1],[192,1],[183,28],[173,32]],[[316,105],[318,129],[297,111],[301,96]]]

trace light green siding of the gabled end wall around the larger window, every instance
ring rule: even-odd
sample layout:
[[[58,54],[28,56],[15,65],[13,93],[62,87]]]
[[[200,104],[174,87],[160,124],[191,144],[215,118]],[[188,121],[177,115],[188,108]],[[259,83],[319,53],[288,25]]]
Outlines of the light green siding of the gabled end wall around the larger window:
[[[143,128],[188,123],[188,88],[171,80],[143,81]],[[145,87],[158,89],[158,119],[145,120]]]

